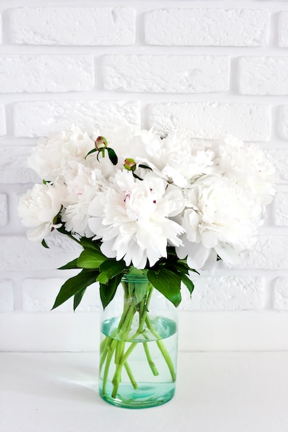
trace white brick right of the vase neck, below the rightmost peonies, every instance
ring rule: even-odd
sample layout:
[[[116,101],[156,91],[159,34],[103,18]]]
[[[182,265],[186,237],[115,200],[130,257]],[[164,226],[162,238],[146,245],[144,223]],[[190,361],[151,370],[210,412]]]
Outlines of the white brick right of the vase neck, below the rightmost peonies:
[[[192,298],[182,289],[180,308],[187,311],[234,311],[263,308],[265,278],[240,276],[192,276]]]

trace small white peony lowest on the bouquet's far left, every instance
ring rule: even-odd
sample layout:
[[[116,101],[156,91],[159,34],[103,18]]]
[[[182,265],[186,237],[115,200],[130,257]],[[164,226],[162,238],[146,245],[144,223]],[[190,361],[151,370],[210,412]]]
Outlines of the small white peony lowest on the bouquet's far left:
[[[65,187],[58,184],[35,184],[19,201],[18,212],[28,230],[27,237],[32,242],[41,242],[55,225],[54,219],[61,210]]]

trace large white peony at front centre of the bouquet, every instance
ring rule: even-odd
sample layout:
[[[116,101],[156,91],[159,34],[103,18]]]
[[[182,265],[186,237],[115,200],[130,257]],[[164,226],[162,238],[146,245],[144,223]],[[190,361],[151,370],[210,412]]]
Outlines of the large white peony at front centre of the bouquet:
[[[109,181],[88,209],[89,227],[96,239],[102,239],[104,255],[144,268],[147,259],[153,266],[166,257],[168,244],[182,244],[183,228],[169,219],[184,208],[180,190],[167,188],[166,181],[154,174],[140,181],[119,170]]]

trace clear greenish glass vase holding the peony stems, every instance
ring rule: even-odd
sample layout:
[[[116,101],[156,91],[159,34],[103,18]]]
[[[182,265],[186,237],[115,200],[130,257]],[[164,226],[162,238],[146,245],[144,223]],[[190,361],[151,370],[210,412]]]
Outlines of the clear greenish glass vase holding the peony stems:
[[[121,285],[102,315],[100,396],[126,408],[164,404],[175,393],[177,309],[146,276]]]

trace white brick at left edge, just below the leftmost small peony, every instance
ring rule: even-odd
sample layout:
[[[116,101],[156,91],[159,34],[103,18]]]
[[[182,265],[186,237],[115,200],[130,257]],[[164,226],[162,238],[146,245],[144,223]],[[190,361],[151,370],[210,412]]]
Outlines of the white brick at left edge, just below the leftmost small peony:
[[[0,271],[54,270],[79,256],[81,248],[65,235],[51,233],[49,249],[25,236],[0,236]]]

